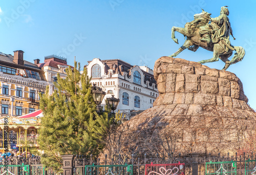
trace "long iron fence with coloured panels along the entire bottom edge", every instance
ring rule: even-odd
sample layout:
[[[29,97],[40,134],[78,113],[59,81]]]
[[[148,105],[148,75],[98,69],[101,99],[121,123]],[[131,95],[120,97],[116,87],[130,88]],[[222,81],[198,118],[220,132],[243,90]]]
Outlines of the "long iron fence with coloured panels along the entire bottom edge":
[[[132,174],[133,175],[174,175],[179,168],[179,171],[176,174],[184,174],[184,175],[256,175],[256,156],[255,154],[243,155],[236,154],[235,156],[230,156],[227,154],[226,156],[217,156],[207,155],[200,156],[199,154],[191,154],[187,157],[182,157],[180,154],[178,156],[173,156],[173,154],[168,154],[166,157],[160,157],[159,155],[147,156],[144,154],[141,155],[131,155],[130,157],[121,157],[118,155],[116,157],[109,158],[107,155],[103,157],[103,159],[93,159],[91,155],[90,158],[86,158],[83,156],[73,156],[69,155],[70,158],[63,159],[63,169],[70,169],[70,172],[73,172],[72,175],[85,175],[86,173],[90,173],[90,175],[99,175],[99,172],[105,172],[102,170],[106,167],[120,167],[122,166],[130,166],[132,165]],[[223,162],[229,162],[229,164],[225,165]],[[233,164],[236,162],[236,168],[234,168]],[[55,172],[49,168],[41,165],[39,157],[33,158],[20,158],[20,157],[9,157],[7,163],[5,165],[29,165],[29,174],[36,175],[53,175]],[[161,171],[160,167],[157,167],[159,164],[162,165]],[[173,167],[168,167],[166,164],[175,164]],[[222,164],[222,167],[221,167]],[[94,169],[97,171],[92,171],[92,167],[95,166]],[[183,167],[181,167],[181,165]],[[3,166],[3,161],[0,160],[0,166]],[[98,169],[97,166],[101,166]],[[104,167],[105,166],[105,167]],[[150,167],[151,166],[151,167]],[[155,167],[154,167],[155,166]],[[10,166],[12,167],[12,166]],[[15,167],[15,166],[14,166]],[[174,168],[177,167],[177,168]],[[159,174],[148,174],[148,168]],[[183,169],[182,169],[183,168]],[[221,168],[221,169],[220,169]],[[15,169],[15,168],[12,168]],[[112,168],[114,169],[114,168]],[[111,169],[111,170],[112,170]],[[172,172],[169,173],[168,169],[172,169]],[[219,170],[220,169],[220,170]],[[236,169],[236,171],[234,171]],[[107,168],[106,168],[107,170]],[[157,171],[156,171],[157,170]],[[219,171],[218,171],[219,170]],[[224,170],[227,170],[226,173]],[[173,172],[174,171],[174,172]],[[107,171],[108,172],[108,171]],[[111,171],[113,172],[113,171]],[[119,172],[115,171],[114,172]],[[122,172],[122,171],[120,171]],[[129,172],[129,171],[127,171]],[[224,173],[225,172],[225,173]],[[123,171],[125,174],[126,171]],[[167,173],[167,174],[166,174]],[[0,173],[1,174],[1,173]],[[63,173],[65,174],[65,172]],[[116,175],[116,173],[113,173]],[[112,175],[113,175],[112,174]],[[127,173],[127,174],[130,174]]]

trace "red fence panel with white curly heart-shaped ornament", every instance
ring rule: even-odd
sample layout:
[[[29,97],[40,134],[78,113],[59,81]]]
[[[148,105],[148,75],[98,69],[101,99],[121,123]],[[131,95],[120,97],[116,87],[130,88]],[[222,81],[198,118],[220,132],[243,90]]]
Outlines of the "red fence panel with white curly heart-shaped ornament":
[[[185,164],[146,164],[145,175],[184,175]]]

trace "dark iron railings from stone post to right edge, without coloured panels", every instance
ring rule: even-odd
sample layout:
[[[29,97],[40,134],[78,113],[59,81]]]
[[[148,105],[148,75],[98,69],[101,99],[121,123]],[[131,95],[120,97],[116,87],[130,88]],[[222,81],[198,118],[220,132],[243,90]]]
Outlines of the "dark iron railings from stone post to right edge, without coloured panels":
[[[121,157],[112,156],[109,158],[107,155],[104,156],[104,159],[93,159],[92,155],[88,159],[82,156],[75,156],[72,158],[73,161],[73,174],[80,175],[81,172],[85,172],[84,168],[86,165],[133,165],[133,175],[144,175],[146,173],[146,165],[147,164],[184,164],[184,175],[206,175],[206,162],[237,162],[237,174],[239,175],[256,175],[253,174],[255,170],[254,161],[256,160],[256,155],[251,153],[250,155],[243,155],[236,154],[234,156],[230,156],[229,154],[225,156],[214,155],[211,154],[207,156],[201,156],[199,154],[190,154],[187,157],[182,157],[180,154],[176,157],[174,154],[168,154],[165,157],[160,157],[158,154],[154,157],[149,157],[146,154],[143,156],[141,155],[131,155],[130,157]],[[250,167],[250,169],[245,169],[245,164]],[[254,166],[254,167],[253,167]],[[166,169],[166,168],[165,168]],[[224,168],[225,169],[225,168]],[[256,168],[255,168],[256,169]],[[163,169],[164,170],[164,169]],[[218,170],[218,169],[216,169]],[[251,174],[252,173],[252,174]],[[164,175],[160,172],[161,175]],[[215,173],[216,175],[220,175]],[[223,173],[222,173],[223,174]],[[159,175],[159,174],[158,174]],[[172,175],[172,174],[169,174]]]

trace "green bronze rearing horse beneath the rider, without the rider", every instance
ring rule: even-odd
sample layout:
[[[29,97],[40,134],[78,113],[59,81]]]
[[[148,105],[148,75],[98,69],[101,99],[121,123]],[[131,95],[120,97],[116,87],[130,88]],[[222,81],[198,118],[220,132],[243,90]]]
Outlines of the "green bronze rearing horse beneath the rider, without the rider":
[[[237,63],[243,59],[245,55],[244,48],[242,48],[241,46],[233,47],[229,44],[229,38],[226,39],[226,41],[228,40],[227,42],[229,43],[227,43],[224,40],[220,40],[218,43],[208,43],[205,41],[204,38],[212,37],[212,33],[215,32],[215,30],[210,28],[208,25],[210,15],[210,13],[207,13],[203,10],[202,13],[195,14],[194,20],[190,23],[186,23],[185,28],[172,28],[172,39],[176,43],[178,43],[178,39],[175,38],[175,31],[183,34],[184,37],[187,37],[187,39],[185,40],[183,46],[181,46],[177,52],[170,55],[169,57],[176,57],[180,52],[182,52],[185,49],[195,52],[199,47],[202,47],[208,51],[214,52],[214,56],[210,59],[202,60],[199,62],[214,62],[218,61],[220,58],[223,62],[225,62],[225,67],[222,70],[226,70],[230,64]],[[236,51],[236,53],[234,54],[234,57],[231,59],[231,61],[229,61],[228,58],[232,55],[232,51]]]

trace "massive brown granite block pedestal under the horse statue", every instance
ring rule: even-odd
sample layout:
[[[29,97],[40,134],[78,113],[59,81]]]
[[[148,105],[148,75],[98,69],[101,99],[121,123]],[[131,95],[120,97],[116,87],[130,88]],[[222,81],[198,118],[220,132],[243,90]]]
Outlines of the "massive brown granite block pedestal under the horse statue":
[[[154,107],[125,122],[125,138],[134,138],[125,151],[231,154],[255,132],[256,114],[235,74],[164,56],[154,76],[159,96]]]

